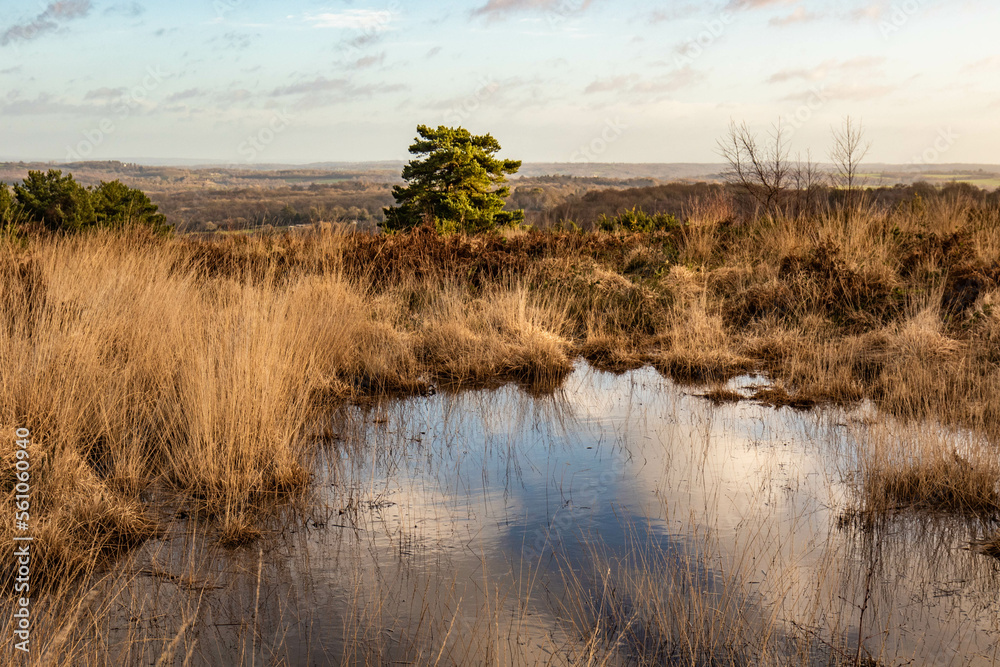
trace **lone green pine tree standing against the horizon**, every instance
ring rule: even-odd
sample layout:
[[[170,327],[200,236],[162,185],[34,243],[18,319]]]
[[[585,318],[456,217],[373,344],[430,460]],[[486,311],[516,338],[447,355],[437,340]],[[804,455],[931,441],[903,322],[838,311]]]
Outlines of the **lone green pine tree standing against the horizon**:
[[[430,223],[440,233],[475,234],[524,222],[524,211],[503,210],[510,194],[503,184],[521,161],[496,159],[496,139],[443,125],[419,125],[417,133],[410,153],[421,157],[403,168],[407,184],[393,188],[396,206],[385,209],[386,231]]]

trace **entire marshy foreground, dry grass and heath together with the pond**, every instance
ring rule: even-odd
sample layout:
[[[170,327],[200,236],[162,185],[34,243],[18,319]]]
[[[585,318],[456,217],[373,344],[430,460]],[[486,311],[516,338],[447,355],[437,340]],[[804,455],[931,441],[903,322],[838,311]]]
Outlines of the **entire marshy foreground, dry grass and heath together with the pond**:
[[[993,664],[998,281],[959,196],[6,243],[33,664]]]

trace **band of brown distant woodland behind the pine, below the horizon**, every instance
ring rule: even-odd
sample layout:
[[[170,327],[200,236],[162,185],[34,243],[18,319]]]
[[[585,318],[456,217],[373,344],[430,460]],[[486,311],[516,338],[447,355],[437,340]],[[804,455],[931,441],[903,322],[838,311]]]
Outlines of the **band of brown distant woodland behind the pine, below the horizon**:
[[[632,210],[684,220],[698,206],[719,198],[730,202],[736,215],[752,216],[756,212],[739,187],[721,183],[656,184],[650,179],[548,176],[517,179],[511,186],[506,208],[523,209],[525,222],[541,229],[567,222],[592,229],[602,218],[615,218]],[[864,193],[872,205],[881,207],[917,198],[956,196],[982,206],[1000,207],[1000,191],[968,183],[918,182],[868,188]],[[791,214],[815,214],[843,203],[844,194],[828,186],[808,191],[790,189],[785,193],[785,208]],[[155,201],[182,231],[355,221],[374,228],[384,218],[382,209],[394,203],[390,184],[358,180],[276,188],[191,188],[158,194]]]

